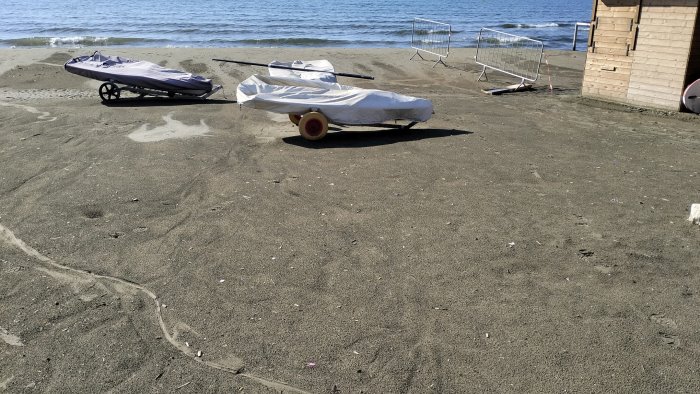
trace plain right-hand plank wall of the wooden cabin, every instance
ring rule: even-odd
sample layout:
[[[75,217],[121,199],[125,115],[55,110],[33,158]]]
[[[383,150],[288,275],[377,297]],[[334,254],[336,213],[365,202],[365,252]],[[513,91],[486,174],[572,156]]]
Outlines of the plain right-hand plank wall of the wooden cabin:
[[[684,4],[685,3],[685,4]],[[644,0],[627,102],[679,110],[698,1]]]

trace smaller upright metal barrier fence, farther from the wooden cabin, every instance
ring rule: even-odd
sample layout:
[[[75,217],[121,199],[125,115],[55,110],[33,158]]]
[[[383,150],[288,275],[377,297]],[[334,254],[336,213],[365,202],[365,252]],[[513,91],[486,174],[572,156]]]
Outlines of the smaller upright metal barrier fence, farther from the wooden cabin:
[[[415,49],[416,53],[411,56],[411,59],[416,57],[416,55],[423,59],[420,52],[425,52],[438,57],[433,67],[438,63],[445,64],[442,59],[450,54],[451,39],[452,26],[450,24],[414,18],[411,32],[411,48]]]

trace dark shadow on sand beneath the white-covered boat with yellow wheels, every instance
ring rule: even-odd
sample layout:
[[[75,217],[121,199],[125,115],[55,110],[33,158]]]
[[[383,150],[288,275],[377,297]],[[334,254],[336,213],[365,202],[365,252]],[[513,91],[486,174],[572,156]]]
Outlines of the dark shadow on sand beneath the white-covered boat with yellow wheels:
[[[419,141],[429,138],[453,137],[473,134],[464,130],[445,129],[380,129],[376,131],[355,132],[351,130],[338,133],[328,133],[322,140],[308,141],[301,136],[285,137],[282,141],[304,148],[367,148],[372,146],[391,145],[399,142]]]

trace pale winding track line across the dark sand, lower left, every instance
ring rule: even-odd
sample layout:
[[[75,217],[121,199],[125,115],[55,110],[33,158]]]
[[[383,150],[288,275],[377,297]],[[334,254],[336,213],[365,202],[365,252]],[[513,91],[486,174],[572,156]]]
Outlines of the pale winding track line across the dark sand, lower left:
[[[201,357],[197,356],[193,349],[190,349],[185,344],[178,342],[175,339],[175,337],[170,334],[170,330],[168,330],[168,327],[165,324],[165,321],[163,320],[163,314],[161,311],[162,304],[160,302],[160,298],[154,292],[138,283],[131,282],[126,279],[116,278],[108,275],[95,274],[81,269],[61,265],[53,261],[52,259],[44,256],[43,254],[39,253],[39,251],[32,248],[31,246],[27,245],[24,241],[17,238],[12,231],[10,231],[7,227],[3,226],[2,224],[0,224],[0,242],[3,242],[9,246],[16,247],[28,256],[38,260],[43,265],[43,267],[35,268],[43,270],[44,272],[46,272],[46,270],[55,270],[57,275],[61,275],[64,278],[69,277],[72,279],[73,282],[76,283],[84,283],[86,280],[108,281],[115,285],[115,289],[117,290],[117,292],[120,293],[125,293],[129,291],[137,291],[144,293],[154,302],[154,313],[156,315],[156,318],[158,319],[158,325],[160,326],[160,330],[163,332],[163,335],[167,339],[167,341],[182,354],[193,359],[196,362],[202,363],[210,368],[214,368],[219,371],[224,371],[237,376],[248,378],[266,387],[281,392],[310,394],[308,391],[289,386],[282,382],[276,382],[271,379],[266,379],[260,376],[255,376],[249,373],[242,372],[244,368],[243,361],[234,356],[229,356],[228,358],[218,361],[202,360]]]

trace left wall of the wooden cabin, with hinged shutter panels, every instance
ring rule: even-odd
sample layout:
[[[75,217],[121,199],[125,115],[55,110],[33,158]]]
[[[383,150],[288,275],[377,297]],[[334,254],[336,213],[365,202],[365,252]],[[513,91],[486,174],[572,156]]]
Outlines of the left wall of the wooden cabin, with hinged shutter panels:
[[[636,6],[594,3],[582,94],[624,101],[629,89],[632,60],[627,40]]]

